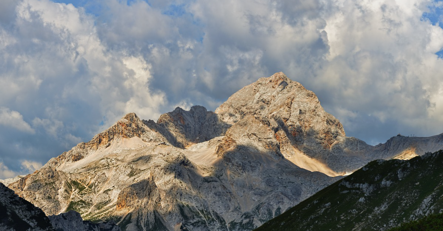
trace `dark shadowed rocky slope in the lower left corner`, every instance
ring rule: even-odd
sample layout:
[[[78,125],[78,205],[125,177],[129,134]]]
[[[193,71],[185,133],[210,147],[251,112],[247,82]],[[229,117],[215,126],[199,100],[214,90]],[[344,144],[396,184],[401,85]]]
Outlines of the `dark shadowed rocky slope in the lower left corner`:
[[[49,216],[0,183],[1,231],[120,231],[113,222],[83,221],[78,212]]]

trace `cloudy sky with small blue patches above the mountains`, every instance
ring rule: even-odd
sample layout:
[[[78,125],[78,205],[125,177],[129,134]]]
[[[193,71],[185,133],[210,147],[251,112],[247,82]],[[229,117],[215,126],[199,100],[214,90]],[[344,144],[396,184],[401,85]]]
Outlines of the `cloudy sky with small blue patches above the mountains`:
[[[368,144],[443,133],[442,0],[1,0],[0,179],[284,72]]]

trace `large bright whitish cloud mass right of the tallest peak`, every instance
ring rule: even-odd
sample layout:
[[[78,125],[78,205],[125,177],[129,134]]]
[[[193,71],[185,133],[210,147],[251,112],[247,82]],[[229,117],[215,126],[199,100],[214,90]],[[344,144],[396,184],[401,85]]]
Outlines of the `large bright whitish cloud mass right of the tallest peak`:
[[[318,72],[315,87],[329,98],[327,108],[345,124],[380,136],[363,118],[390,124],[404,133],[442,133],[435,114],[443,62],[435,54],[443,47],[443,30],[423,18],[428,1],[338,1],[340,13],[326,19],[330,52]],[[434,119],[430,122],[429,117]],[[433,125],[432,125],[433,124]],[[392,136],[394,131],[390,133]],[[365,138],[365,137],[362,137]],[[387,138],[387,137],[386,137]]]

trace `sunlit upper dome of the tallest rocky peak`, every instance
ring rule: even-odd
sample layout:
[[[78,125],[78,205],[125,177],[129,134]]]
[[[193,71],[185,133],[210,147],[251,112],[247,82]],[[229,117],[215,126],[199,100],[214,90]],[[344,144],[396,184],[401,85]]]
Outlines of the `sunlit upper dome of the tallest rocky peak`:
[[[326,113],[319,99],[300,83],[290,80],[283,72],[243,87],[215,110],[226,123],[233,124],[246,115],[260,115],[282,121],[298,132],[321,132],[345,136],[342,124]],[[332,140],[329,140],[329,142]]]

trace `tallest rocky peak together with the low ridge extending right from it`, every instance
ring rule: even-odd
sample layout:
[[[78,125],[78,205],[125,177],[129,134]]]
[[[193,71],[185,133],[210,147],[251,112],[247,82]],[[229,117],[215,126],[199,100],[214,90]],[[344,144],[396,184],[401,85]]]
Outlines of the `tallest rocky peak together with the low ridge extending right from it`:
[[[283,72],[261,78],[243,87],[215,113],[221,121],[259,131],[254,119],[267,121],[274,136],[273,147],[298,167],[329,176],[351,173],[374,159],[410,159],[443,148],[442,135],[432,137],[395,136],[376,147],[354,137],[346,137],[343,126],[326,113],[317,96]],[[235,132],[241,134],[241,129]],[[229,131],[229,130],[228,130]],[[245,137],[243,137],[245,138]],[[252,142],[252,137],[247,137]],[[256,144],[254,144],[256,145]],[[260,145],[259,145],[260,146]]]

